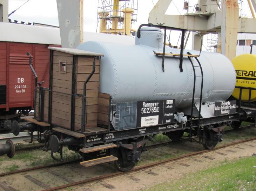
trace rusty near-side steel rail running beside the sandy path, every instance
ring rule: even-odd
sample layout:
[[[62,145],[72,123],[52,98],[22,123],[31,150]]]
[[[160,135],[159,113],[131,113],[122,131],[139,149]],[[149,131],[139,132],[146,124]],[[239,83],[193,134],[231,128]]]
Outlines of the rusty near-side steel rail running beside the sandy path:
[[[146,164],[146,165],[143,165],[143,166],[140,166],[140,167],[133,168],[132,170],[130,170],[128,172],[114,172],[114,173],[108,174],[108,175],[98,176],[98,177],[94,177],[94,178],[85,179],[83,181],[78,181],[78,182],[74,182],[74,183],[70,183],[70,184],[65,184],[65,185],[61,185],[61,186],[56,186],[54,188],[46,189],[44,191],[52,191],[52,190],[65,189],[65,188],[70,187],[70,186],[76,186],[76,185],[80,185],[80,184],[84,184],[84,183],[89,183],[89,182],[93,182],[93,181],[97,181],[97,180],[101,180],[101,179],[105,179],[105,178],[115,177],[115,176],[119,176],[119,175],[125,175],[125,174],[129,174],[130,172],[151,168],[151,167],[154,167],[154,166],[158,166],[160,164],[164,164],[164,163],[171,162],[171,161],[176,161],[176,160],[183,159],[183,158],[186,158],[186,157],[196,156],[196,155],[203,154],[203,153],[209,153],[209,152],[221,149],[221,148],[225,148],[225,147],[241,144],[243,142],[248,142],[248,141],[252,141],[252,140],[256,140],[256,137],[253,137],[253,138],[250,138],[250,139],[246,139],[246,140],[237,141],[237,142],[233,142],[233,143],[230,143],[230,144],[227,144],[227,145],[223,145],[223,146],[220,146],[220,147],[217,147],[217,148],[214,148],[214,149],[210,149],[210,150],[201,150],[201,151],[198,151],[198,152],[194,152],[194,153],[178,156],[178,157],[167,159],[167,160],[163,160],[163,161],[160,161],[160,162]]]

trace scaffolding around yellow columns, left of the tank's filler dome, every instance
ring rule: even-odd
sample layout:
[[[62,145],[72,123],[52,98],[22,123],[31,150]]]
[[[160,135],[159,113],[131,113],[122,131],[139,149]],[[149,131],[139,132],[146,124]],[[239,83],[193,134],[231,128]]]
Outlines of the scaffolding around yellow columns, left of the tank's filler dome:
[[[96,32],[130,35],[137,10],[138,0],[98,0]]]

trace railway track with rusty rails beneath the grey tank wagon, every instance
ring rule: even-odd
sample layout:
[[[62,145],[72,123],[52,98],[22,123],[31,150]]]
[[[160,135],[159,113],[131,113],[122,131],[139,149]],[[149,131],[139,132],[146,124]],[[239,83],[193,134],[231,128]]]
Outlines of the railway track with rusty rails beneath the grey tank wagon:
[[[139,170],[143,170],[143,169],[149,169],[151,167],[158,166],[160,164],[168,163],[168,162],[171,162],[171,161],[177,161],[177,160],[180,160],[180,159],[184,159],[186,157],[196,156],[196,155],[200,155],[200,154],[203,154],[203,153],[213,152],[213,151],[221,149],[221,148],[225,148],[225,147],[241,144],[243,142],[248,142],[248,141],[251,141],[251,140],[256,140],[256,137],[251,138],[251,139],[247,139],[247,140],[237,141],[237,142],[234,142],[234,143],[231,143],[231,144],[228,144],[228,145],[220,146],[220,147],[212,149],[212,150],[201,150],[199,152],[193,152],[193,153],[182,155],[182,156],[178,156],[178,157],[175,157],[175,158],[172,158],[172,159],[167,159],[167,160],[162,160],[162,161],[159,161],[159,162],[154,162],[154,163],[146,164],[146,165],[143,165],[143,166],[136,167],[136,168],[132,169],[129,172],[116,172],[116,171],[114,171],[112,173],[109,173],[109,174],[106,174],[106,175],[103,175],[103,176],[96,176],[96,177],[92,177],[92,178],[88,177],[88,178],[86,178],[86,179],[84,179],[82,181],[78,181],[78,182],[71,181],[71,180],[65,181],[63,183],[69,182],[69,184],[64,184],[62,186],[56,186],[56,187],[53,187],[53,188],[50,188],[51,186],[48,186],[46,184],[41,184],[39,179],[33,178],[33,176],[31,176],[31,175],[33,175],[33,171],[34,171],[34,174],[35,173],[36,174],[40,174],[39,173],[40,171],[38,171],[38,170],[50,171],[51,173],[56,173],[55,176],[58,176],[59,178],[62,177],[62,176],[65,177],[65,175],[58,174],[59,170],[57,170],[57,169],[52,170],[52,169],[54,167],[65,168],[65,167],[61,167],[61,166],[65,166],[65,165],[68,166],[69,164],[73,165],[75,163],[77,163],[77,166],[79,166],[78,162],[80,162],[81,160],[69,161],[69,162],[58,163],[58,164],[49,164],[49,165],[44,165],[44,166],[39,166],[39,167],[33,167],[33,168],[22,169],[22,170],[17,170],[17,171],[12,171],[12,172],[6,172],[6,173],[0,174],[0,177],[1,177],[1,179],[2,179],[2,177],[5,177],[5,176],[10,178],[9,175],[11,175],[11,176],[13,176],[13,175],[22,176],[22,175],[27,174],[28,172],[30,172],[29,175],[26,175],[27,176],[26,178],[29,179],[30,181],[32,181],[34,184],[37,184],[40,188],[44,188],[46,190],[65,189],[65,188],[70,187],[70,186],[77,186],[77,185],[80,185],[80,184],[90,183],[90,182],[93,182],[93,181],[99,181],[99,180],[102,180],[102,179],[105,179],[105,178],[109,178],[109,177],[115,177],[115,176],[129,174],[129,173],[132,173],[132,172],[135,172],[135,171],[139,171]],[[150,145],[147,148],[149,150],[152,148],[152,150],[153,150],[153,149],[156,149],[157,146],[164,145],[164,144],[167,145],[170,142],[167,141],[167,142],[163,142],[161,144]],[[70,167],[70,168],[73,168],[73,167]],[[96,168],[96,167],[94,167],[94,168]],[[101,169],[102,169],[102,167],[101,167]],[[56,172],[54,172],[54,171],[56,171]],[[22,173],[22,175],[20,175],[21,173]],[[0,181],[0,187],[1,187],[1,184],[2,184],[2,182]],[[3,187],[4,186],[2,184],[1,188],[3,188]],[[7,188],[7,187],[4,187],[4,188]]]

